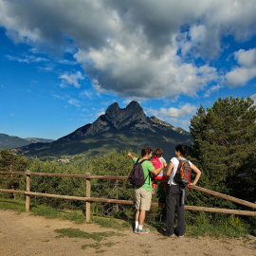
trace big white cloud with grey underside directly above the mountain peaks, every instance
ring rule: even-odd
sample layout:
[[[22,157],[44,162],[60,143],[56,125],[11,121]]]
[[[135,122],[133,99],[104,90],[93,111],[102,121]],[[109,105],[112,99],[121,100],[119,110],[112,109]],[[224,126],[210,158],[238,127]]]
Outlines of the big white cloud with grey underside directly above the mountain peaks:
[[[113,91],[120,97],[137,100],[174,98],[179,94],[192,96],[218,79],[216,69],[207,64],[199,68],[182,64],[172,47],[166,47],[164,54],[155,58],[153,52],[136,42],[129,45],[131,48],[112,43],[103,51],[92,49],[75,55],[81,63],[93,60],[92,73],[101,71],[101,77],[93,79],[96,91]]]

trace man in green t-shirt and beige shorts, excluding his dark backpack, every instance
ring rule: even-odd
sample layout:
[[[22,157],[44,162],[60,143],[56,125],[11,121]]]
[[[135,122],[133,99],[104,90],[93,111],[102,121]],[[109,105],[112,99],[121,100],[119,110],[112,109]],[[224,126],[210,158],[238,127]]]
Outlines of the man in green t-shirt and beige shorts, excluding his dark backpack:
[[[135,186],[135,207],[136,207],[136,222],[135,222],[135,229],[134,232],[137,234],[146,234],[150,230],[144,229],[143,224],[146,217],[146,211],[150,210],[151,207],[151,200],[152,200],[152,179],[151,174],[157,175],[163,170],[163,165],[160,168],[155,169],[152,162],[150,161],[152,157],[152,149],[150,147],[144,147],[141,150],[141,158],[138,159],[134,155],[132,155],[130,152],[128,153],[128,156],[131,157],[135,165],[140,165],[144,173],[145,181],[143,181],[143,185],[136,185],[137,183],[133,183]],[[139,166],[138,166],[139,167]],[[133,169],[134,171],[134,169]],[[131,173],[134,173],[134,172]],[[139,168],[137,168],[137,172],[139,171]],[[130,175],[130,181],[133,180],[133,177]]]

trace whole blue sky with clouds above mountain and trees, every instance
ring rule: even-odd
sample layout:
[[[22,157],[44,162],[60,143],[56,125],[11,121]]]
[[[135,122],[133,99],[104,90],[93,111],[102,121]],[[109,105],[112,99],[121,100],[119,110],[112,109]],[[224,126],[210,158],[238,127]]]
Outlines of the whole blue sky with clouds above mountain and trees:
[[[0,0],[0,134],[58,139],[118,102],[189,131],[256,101],[256,0]]]

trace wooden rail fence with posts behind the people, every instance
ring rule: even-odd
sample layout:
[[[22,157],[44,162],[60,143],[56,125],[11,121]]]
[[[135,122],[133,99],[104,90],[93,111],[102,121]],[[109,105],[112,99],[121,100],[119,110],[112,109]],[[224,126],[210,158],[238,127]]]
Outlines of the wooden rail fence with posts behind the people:
[[[22,193],[26,195],[26,211],[29,211],[30,196],[45,196],[51,198],[67,199],[67,200],[79,200],[86,202],[86,221],[90,220],[90,204],[91,202],[102,202],[102,203],[114,203],[114,204],[124,204],[124,205],[134,205],[133,201],[130,200],[117,200],[117,199],[107,199],[107,198],[96,198],[91,197],[91,179],[111,179],[111,180],[128,180],[127,176],[107,176],[107,175],[90,175],[90,174],[46,174],[46,173],[31,173],[30,171],[24,172],[0,172],[0,174],[7,175],[27,175],[27,190],[26,191],[16,191],[16,190],[4,190],[0,189],[0,192],[11,192],[11,193]],[[41,193],[41,192],[30,192],[30,176],[49,176],[49,177],[70,177],[70,178],[83,178],[86,179],[86,197],[78,196],[69,196],[69,195],[60,195],[60,194],[50,194],[50,193]],[[250,207],[256,210],[256,204],[247,202],[236,197],[229,196],[220,192],[213,192],[198,186],[191,186],[193,190],[199,192],[206,192],[210,195],[214,195],[231,202],[241,204],[247,207]],[[152,203],[152,207],[164,208],[165,204],[163,203]],[[208,212],[219,212],[227,214],[238,214],[246,216],[256,216],[256,211],[249,210],[229,210],[229,209],[217,209],[217,208],[206,208],[206,207],[196,207],[196,206],[185,206],[185,210],[199,210],[199,211],[208,211]]]

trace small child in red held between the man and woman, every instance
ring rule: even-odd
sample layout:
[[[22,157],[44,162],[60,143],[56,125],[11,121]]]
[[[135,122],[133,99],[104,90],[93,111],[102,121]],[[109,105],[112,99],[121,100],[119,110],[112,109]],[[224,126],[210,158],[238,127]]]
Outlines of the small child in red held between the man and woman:
[[[151,162],[153,163],[153,166],[156,168],[159,168],[161,166],[161,164],[163,164],[164,168],[167,167],[167,163],[166,160],[164,159],[163,155],[163,150],[160,148],[155,149],[154,153],[153,153],[154,157],[151,159]],[[153,179],[155,180],[153,185],[152,185],[152,194],[155,194],[155,187],[157,185],[157,181],[156,180],[162,180],[165,179],[166,175],[164,174],[163,171],[161,171],[159,174],[157,175],[153,175]],[[166,188],[167,182],[164,182],[164,188]]]

